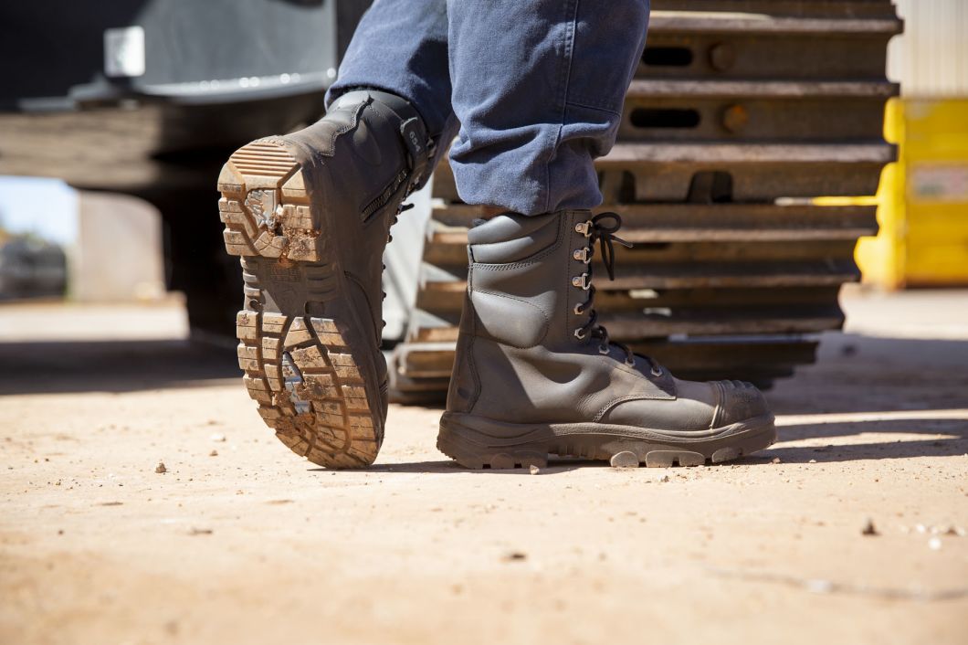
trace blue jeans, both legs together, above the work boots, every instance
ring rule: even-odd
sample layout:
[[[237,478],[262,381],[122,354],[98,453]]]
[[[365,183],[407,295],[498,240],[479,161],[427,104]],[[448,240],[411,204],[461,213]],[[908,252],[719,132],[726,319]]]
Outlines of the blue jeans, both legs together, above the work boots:
[[[457,134],[467,203],[593,208],[648,24],[649,0],[376,0],[327,105],[359,87],[408,99],[441,147]]]

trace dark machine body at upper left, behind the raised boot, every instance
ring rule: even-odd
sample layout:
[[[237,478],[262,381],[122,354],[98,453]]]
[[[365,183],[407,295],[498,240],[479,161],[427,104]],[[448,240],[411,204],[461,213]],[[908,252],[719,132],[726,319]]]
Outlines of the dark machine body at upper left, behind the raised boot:
[[[366,0],[69,0],[0,8],[0,174],[159,208],[168,287],[230,335],[242,281],[215,180],[253,138],[316,120]]]

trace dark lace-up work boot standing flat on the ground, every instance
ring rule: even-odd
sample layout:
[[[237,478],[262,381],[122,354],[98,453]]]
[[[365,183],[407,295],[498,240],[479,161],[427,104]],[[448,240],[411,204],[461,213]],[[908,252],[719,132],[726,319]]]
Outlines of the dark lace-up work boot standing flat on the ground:
[[[680,381],[610,342],[590,261],[613,272],[614,213],[505,214],[469,231],[468,293],[439,449],[469,468],[543,466],[548,454],[613,466],[696,466],[776,437],[756,387]]]

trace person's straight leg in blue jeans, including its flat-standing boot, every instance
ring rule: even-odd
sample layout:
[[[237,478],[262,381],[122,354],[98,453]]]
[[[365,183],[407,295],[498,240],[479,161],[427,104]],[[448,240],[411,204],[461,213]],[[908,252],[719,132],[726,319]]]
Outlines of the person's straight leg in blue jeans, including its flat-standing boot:
[[[549,453],[687,466],[771,445],[753,385],[676,379],[612,342],[595,313],[591,262],[612,277],[625,242],[619,215],[590,213],[592,162],[615,140],[648,2],[448,6],[458,192],[513,212],[469,230],[439,449],[470,468],[544,466]]]

